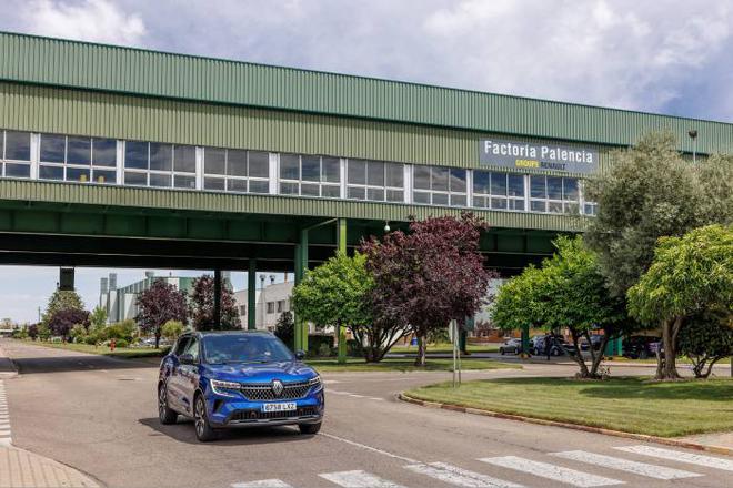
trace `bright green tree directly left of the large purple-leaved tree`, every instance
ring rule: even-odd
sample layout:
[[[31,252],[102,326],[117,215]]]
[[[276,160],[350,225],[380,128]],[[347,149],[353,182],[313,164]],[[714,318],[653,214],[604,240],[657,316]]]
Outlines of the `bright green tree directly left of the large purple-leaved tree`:
[[[348,327],[360,345],[368,363],[382,360],[404,335],[404,327],[379,321],[372,314],[371,292],[374,281],[368,273],[366,256],[344,253],[308,271],[293,288],[293,307],[305,321],[317,326]]]

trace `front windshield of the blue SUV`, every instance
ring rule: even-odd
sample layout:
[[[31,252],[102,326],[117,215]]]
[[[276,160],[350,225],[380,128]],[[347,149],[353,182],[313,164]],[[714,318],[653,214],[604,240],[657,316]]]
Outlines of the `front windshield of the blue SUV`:
[[[293,360],[293,355],[273,336],[224,334],[203,337],[203,358],[209,364],[271,363]]]

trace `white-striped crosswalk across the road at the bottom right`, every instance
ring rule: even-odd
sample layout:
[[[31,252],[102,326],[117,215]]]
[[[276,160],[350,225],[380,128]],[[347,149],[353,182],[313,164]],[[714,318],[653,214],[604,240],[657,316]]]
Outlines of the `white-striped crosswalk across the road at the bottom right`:
[[[421,487],[431,486],[431,480],[438,486],[455,486],[463,488],[531,488],[544,486],[548,480],[561,485],[575,487],[604,487],[616,485],[645,486],[644,480],[677,480],[704,476],[702,472],[689,471],[687,469],[672,468],[649,462],[649,458],[663,459],[664,461],[694,465],[702,469],[733,471],[733,460],[722,457],[685,453],[675,449],[666,449],[650,445],[620,446],[614,447],[620,456],[598,454],[585,450],[568,450],[561,453],[546,453],[542,460],[530,459],[520,456],[500,456],[478,458],[486,465],[488,471],[478,472],[464,469],[446,462],[410,462],[403,466],[405,471],[423,478]],[[642,459],[630,459],[636,456]],[[558,465],[555,462],[563,462]],[[568,465],[572,466],[569,467]],[[619,471],[626,477],[624,480],[610,478],[589,472],[589,468],[600,467],[604,472]],[[687,468],[687,466],[684,466]],[[693,468],[694,469],[694,468]],[[483,469],[482,469],[483,471]],[[521,474],[526,485],[512,480],[512,476]],[[343,488],[406,488],[403,481],[393,481],[378,474],[363,470],[345,470],[333,472],[321,472],[318,477],[324,482],[303,486],[339,486]],[[398,477],[399,476],[394,476]],[[509,479],[505,479],[509,478]],[[554,486],[554,485],[553,485]],[[676,485],[675,485],[676,486]],[[732,485],[733,486],[733,485]],[[280,479],[261,479],[255,481],[243,481],[231,485],[232,488],[294,488],[293,485]]]

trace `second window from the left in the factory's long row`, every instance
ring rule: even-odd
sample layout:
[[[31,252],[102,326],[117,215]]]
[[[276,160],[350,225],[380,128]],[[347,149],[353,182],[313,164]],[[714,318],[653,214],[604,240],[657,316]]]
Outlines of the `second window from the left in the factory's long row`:
[[[60,134],[40,134],[40,138],[39,179],[117,183],[116,140]]]

